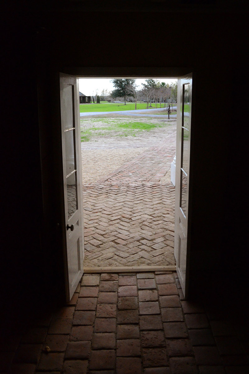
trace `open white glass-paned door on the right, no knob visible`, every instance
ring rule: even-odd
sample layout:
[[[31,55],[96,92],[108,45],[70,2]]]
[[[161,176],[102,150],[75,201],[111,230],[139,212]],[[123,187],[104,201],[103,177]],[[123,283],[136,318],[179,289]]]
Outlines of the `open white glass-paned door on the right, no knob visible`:
[[[188,202],[191,131],[192,74],[178,79],[177,139],[175,171],[175,243],[176,270],[183,294],[188,291]]]

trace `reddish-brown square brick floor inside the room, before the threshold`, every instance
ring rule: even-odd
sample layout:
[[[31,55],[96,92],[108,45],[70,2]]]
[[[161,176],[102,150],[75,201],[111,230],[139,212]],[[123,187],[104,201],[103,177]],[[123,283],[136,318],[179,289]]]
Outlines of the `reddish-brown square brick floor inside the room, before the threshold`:
[[[86,274],[72,301],[2,341],[0,373],[245,374],[248,336],[185,301],[175,272]]]

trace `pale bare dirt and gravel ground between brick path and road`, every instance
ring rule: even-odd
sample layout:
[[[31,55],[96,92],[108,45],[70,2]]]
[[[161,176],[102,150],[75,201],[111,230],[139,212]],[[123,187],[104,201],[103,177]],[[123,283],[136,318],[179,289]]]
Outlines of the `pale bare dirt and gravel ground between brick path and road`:
[[[112,126],[113,123],[124,122],[144,122],[162,127],[155,127],[149,131],[133,131],[132,134],[135,133],[136,136],[129,135],[130,131],[125,132],[117,126],[113,126],[113,130],[104,129]],[[84,117],[81,126],[88,130],[94,127],[100,128],[91,132],[94,135],[90,136],[90,141],[81,142],[83,185],[85,185],[95,183],[149,147],[162,144],[166,136],[176,131],[176,120],[108,114]],[[162,177],[161,183],[170,183],[170,173],[166,174]]]

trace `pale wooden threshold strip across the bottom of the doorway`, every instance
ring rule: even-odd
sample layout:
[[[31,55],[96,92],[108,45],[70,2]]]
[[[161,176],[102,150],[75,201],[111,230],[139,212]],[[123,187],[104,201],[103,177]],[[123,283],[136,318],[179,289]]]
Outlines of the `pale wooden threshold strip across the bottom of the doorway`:
[[[108,267],[85,267],[84,273],[139,273],[139,272],[175,272],[175,265],[168,266],[108,266]]]

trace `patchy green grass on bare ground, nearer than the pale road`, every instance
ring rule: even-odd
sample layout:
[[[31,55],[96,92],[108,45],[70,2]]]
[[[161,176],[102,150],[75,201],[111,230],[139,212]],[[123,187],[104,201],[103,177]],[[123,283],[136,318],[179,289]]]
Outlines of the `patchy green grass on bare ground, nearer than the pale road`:
[[[154,128],[169,126],[170,123],[154,123],[155,120],[134,121],[132,119],[114,118],[81,118],[81,141],[90,141],[96,137],[136,137],[141,131],[150,131]]]

